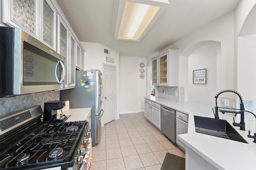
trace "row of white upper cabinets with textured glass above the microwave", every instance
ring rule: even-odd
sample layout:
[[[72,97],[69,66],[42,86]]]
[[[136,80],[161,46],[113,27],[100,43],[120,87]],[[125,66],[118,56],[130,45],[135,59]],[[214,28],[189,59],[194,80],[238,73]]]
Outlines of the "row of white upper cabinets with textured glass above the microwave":
[[[2,0],[2,22],[21,28],[62,56],[65,88],[84,70],[84,48],[55,0]]]

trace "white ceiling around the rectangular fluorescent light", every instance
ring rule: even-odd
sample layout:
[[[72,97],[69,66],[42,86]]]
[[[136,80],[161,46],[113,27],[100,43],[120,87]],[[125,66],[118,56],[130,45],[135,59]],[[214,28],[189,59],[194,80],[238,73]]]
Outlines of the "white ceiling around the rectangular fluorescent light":
[[[120,55],[148,57],[234,10],[239,0],[169,0],[140,42],[114,40],[115,0],[56,0],[78,39],[100,43]]]

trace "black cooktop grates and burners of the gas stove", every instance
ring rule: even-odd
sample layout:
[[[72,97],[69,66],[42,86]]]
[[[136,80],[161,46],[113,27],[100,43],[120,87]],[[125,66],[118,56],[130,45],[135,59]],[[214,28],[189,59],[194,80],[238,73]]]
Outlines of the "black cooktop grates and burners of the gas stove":
[[[30,129],[35,128],[33,125],[27,127],[30,133],[16,134],[20,140],[10,145],[10,137],[0,144],[8,146],[6,150],[1,146],[0,168],[33,169],[35,166],[36,169],[38,166],[46,168],[51,164],[72,166],[85,124],[86,121],[55,122],[46,123],[36,129]]]

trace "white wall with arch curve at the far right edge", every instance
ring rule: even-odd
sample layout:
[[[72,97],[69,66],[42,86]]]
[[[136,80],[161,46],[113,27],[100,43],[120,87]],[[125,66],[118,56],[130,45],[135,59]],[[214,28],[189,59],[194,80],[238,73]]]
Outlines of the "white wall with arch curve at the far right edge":
[[[248,27],[256,27],[256,0],[241,0],[235,10],[235,62],[237,66],[237,91],[243,100],[252,100],[256,111],[256,29],[246,32]],[[249,16],[254,16],[252,25],[246,24]]]

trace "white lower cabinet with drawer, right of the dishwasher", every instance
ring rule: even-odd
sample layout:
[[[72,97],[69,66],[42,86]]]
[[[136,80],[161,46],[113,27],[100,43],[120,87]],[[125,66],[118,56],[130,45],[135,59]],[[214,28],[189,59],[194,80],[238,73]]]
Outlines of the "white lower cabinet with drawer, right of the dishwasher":
[[[188,133],[188,115],[176,111],[176,144],[185,151],[186,145],[178,139],[178,135]]]

